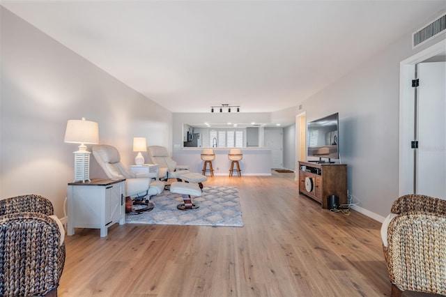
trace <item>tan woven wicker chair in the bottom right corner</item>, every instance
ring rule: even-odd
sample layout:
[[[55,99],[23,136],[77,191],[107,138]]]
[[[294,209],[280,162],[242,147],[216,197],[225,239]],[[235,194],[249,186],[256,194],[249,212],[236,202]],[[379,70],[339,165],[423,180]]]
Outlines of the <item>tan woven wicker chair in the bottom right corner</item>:
[[[446,200],[406,195],[394,201],[391,213],[396,215],[381,230],[391,296],[446,295]]]

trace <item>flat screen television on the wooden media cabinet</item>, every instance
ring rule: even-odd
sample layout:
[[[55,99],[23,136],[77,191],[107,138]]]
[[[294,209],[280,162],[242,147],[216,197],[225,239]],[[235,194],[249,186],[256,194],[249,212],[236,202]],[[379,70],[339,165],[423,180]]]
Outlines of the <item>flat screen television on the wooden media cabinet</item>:
[[[331,114],[307,123],[308,156],[319,160],[309,162],[326,162],[322,158],[339,159],[339,114]]]

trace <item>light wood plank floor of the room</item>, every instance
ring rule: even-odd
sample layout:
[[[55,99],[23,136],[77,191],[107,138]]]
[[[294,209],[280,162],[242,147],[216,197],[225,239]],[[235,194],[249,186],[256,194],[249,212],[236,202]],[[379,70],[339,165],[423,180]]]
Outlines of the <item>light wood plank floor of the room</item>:
[[[206,185],[238,188],[245,227],[76,229],[59,296],[390,295],[379,222],[322,209],[298,195],[294,174]]]

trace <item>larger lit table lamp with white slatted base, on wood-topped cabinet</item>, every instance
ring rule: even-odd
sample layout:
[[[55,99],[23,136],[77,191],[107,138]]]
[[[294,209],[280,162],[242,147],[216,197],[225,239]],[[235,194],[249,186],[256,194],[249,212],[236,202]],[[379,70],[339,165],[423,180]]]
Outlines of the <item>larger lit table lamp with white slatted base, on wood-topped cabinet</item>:
[[[90,152],[86,150],[86,144],[99,143],[98,123],[82,120],[68,120],[63,142],[80,144],[79,151],[75,154],[75,180],[90,181]]]

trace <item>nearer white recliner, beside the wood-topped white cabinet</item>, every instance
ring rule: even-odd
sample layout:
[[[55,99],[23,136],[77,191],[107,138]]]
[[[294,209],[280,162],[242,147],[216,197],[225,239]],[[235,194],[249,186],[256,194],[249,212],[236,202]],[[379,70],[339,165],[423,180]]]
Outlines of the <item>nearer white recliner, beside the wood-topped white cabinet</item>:
[[[164,183],[154,180],[157,178],[157,173],[128,172],[122,165],[121,157],[114,146],[95,145],[91,151],[108,178],[125,178],[125,197],[130,197],[134,204],[130,209],[126,203],[126,213],[139,213],[153,208],[153,204],[148,199],[164,190]]]

